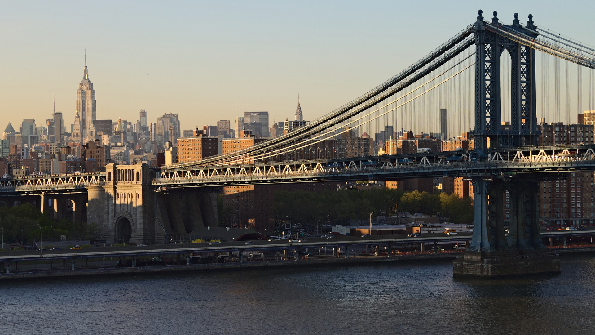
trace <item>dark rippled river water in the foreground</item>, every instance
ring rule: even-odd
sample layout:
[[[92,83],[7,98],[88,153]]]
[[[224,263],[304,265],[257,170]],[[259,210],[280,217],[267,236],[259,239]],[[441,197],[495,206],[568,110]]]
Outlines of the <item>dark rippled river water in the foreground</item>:
[[[0,334],[595,334],[595,255],[562,256],[561,268],[512,280],[390,262],[2,283]]]

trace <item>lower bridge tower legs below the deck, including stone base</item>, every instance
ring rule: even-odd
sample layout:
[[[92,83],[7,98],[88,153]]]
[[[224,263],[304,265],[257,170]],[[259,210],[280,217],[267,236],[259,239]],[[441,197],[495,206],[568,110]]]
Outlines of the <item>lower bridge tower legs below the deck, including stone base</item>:
[[[490,178],[491,180],[486,180]],[[505,277],[559,273],[560,259],[541,241],[538,180],[503,181],[472,178],[474,228],[471,246],[454,260],[455,277]],[[503,218],[503,195],[511,194],[508,233]]]

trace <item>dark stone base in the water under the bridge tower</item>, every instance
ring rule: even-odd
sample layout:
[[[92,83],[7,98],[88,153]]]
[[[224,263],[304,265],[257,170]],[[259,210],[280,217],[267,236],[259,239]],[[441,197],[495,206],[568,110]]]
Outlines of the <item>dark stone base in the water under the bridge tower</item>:
[[[560,273],[559,255],[547,249],[464,252],[453,263],[453,277],[497,278]]]

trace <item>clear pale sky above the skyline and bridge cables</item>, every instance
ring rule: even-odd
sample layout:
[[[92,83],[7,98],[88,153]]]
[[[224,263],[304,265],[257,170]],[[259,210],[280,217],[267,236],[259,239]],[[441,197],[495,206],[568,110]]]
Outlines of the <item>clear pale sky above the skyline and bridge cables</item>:
[[[98,119],[182,129],[244,111],[312,120],[395,75],[475,20],[519,13],[595,45],[593,1],[1,1],[0,123],[74,121],[87,51]],[[69,127],[69,126],[67,126]],[[0,131],[2,131],[0,129]]]

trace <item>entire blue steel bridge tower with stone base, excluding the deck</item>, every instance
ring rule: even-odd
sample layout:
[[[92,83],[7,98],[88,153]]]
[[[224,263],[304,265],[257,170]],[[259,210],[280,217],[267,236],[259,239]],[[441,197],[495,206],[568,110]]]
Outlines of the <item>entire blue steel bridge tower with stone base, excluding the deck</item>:
[[[472,157],[486,160],[493,148],[536,145],[535,50],[510,39],[513,30],[536,38],[539,32],[529,15],[522,26],[515,13],[513,24],[499,22],[494,11],[491,22],[478,11],[475,35],[475,150]],[[512,35],[510,35],[512,36]],[[511,129],[502,131],[500,106],[500,56],[512,59]],[[541,241],[539,231],[538,186],[540,178],[515,180],[511,176],[469,175],[475,193],[474,229],[471,247],[455,260],[453,275],[499,277],[506,275],[559,272],[559,258]],[[503,195],[511,194],[508,236],[503,218]]]

